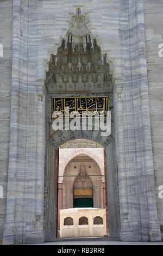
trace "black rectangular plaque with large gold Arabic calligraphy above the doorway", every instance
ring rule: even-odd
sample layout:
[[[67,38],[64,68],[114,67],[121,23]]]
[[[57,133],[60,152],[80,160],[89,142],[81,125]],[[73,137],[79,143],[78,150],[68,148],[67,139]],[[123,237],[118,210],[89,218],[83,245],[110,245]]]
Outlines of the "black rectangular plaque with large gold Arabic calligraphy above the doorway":
[[[52,119],[108,116],[108,96],[52,97]]]

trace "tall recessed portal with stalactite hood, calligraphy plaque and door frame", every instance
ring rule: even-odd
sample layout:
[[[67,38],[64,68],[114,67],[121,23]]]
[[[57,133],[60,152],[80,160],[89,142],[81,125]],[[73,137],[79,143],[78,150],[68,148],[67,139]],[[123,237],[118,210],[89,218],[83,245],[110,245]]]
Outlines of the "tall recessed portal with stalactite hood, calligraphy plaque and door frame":
[[[83,29],[80,29],[81,27]],[[58,230],[58,207],[61,203],[58,194],[62,190],[58,182],[59,148],[63,143],[73,139],[88,139],[101,144],[104,148],[105,187],[107,185],[108,188],[105,198],[110,209],[106,214],[109,220],[109,233],[110,237],[119,237],[117,164],[113,138],[113,81],[109,65],[107,54],[102,53],[96,36],[87,27],[87,18],[77,11],[76,15],[72,16],[71,25],[57,49],[57,54],[51,54],[46,72],[48,124],[44,216],[47,241],[55,240]],[[67,108],[70,110],[69,113]],[[70,124],[67,118],[71,119]],[[62,173],[64,170],[62,168]],[[78,174],[76,173],[76,176]],[[90,179],[92,181],[92,177]],[[71,194],[73,190],[72,184]],[[67,202],[68,200],[73,205],[73,197],[67,198]],[[94,206],[94,195],[92,200]]]

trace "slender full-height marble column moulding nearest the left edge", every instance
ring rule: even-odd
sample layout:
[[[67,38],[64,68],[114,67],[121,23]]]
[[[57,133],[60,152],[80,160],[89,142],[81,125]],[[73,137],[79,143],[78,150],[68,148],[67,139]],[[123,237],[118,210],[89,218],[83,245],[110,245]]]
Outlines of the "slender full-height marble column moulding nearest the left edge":
[[[19,130],[19,108],[20,108],[20,78],[21,58],[20,48],[22,46],[21,34],[21,0],[13,1],[13,32],[12,32],[12,85],[11,85],[11,111],[10,111],[10,144],[9,144],[9,166],[8,166],[8,188],[7,209],[3,231],[3,245],[15,243],[15,209],[17,196],[17,165],[18,165],[18,130]],[[19,226],[22,223],[19,223]],[[20,230],[20,228],[19,228]]]

